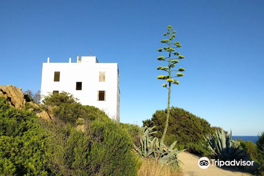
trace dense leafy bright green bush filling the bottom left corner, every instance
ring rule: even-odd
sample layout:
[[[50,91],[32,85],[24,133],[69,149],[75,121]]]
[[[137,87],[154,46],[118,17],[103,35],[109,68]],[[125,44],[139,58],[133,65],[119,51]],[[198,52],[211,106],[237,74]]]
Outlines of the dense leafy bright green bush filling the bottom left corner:
[[[33,112],[10,107],[0,97],[0,173],[48,175],[47,138]]]

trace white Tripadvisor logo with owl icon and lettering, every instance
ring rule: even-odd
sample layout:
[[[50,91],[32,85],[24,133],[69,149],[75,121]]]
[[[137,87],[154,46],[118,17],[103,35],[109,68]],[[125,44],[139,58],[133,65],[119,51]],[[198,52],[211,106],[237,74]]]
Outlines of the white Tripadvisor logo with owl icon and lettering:
[[[232,160],[232,161],[219,161],[211,160],[213,166],[253,166],[254,161],[242,161],[242,160]],[[198,160],[198,165],[202,169],[206,169],[210,165],[210,160],[206,157],[202,157]]]

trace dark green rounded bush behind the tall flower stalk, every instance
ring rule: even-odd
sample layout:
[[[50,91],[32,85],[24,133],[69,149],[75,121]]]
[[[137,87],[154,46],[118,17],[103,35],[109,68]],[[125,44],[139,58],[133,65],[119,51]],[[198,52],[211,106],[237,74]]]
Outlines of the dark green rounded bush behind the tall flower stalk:
[[[154,136],[161,138],[166,121],[166,110],[157,110],[151,119],[143,121],[143,126],[156,126]],[[205,119],[202,119],[189,111],[182,108],[171,107],[169,116],[169,126],[165,136],[166,146],[170,146],[172,142],[177,141],[176,148],[178,150],[188,148],[189,152],[200,155],[208,155],[206,149],[200,145],[200,141],[204,141],[205,133],[214,133],[214,129]]]

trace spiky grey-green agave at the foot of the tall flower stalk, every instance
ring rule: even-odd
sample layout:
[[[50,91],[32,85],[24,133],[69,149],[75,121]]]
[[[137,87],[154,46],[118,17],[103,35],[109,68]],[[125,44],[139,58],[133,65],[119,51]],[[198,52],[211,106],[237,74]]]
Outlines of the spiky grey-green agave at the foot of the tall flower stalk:
[[[139,153],[143,158],[155,158],[160,163],[165,164],[174,164],[177,163],[177,154],[186,150],[177,150],[177,148],[173,149],[177,143],[175,141],[167,148],[164,144],[160,145],[158,138],[153,138],[151,134],[157,133],[157,131],[151,132],[155,128],[155,126],[148,128],[147,126],[143,127],[143,135],[141,137],[140,146],[136,146],[134,144],[134,148],[137,153]]]

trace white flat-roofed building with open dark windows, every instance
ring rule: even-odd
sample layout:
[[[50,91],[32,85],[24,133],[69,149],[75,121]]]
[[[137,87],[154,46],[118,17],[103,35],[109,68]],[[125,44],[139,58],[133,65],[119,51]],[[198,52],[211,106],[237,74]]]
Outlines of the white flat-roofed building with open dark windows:
[[[77,63],[43,63],[41,94],[69,92],[83,105],[104,110],[119,121],[119,70],[117,63],[99,63],[94,56],[77,57]]]

